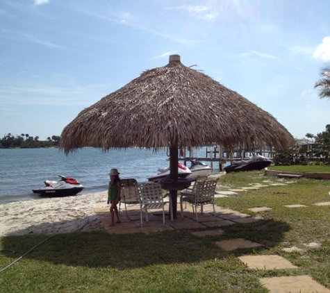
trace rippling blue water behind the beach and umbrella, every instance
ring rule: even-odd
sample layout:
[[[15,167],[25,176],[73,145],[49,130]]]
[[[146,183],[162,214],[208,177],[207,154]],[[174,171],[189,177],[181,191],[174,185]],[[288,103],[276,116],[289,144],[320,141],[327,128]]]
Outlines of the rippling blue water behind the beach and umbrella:
[[[193,156],[205,157],[206,151],[197,149]],[[84,148],[68,156],[58,149],[0,149],[0,204],[40,199],[32,190],[43,187],[46,179],[58,181],[57,175],[76,178],[85,187],[79,194],[107,190],[111,168],[119,170],[120,178],[144,182],[158,167],[167,167],[167,159],[165,150],[135,148]]]

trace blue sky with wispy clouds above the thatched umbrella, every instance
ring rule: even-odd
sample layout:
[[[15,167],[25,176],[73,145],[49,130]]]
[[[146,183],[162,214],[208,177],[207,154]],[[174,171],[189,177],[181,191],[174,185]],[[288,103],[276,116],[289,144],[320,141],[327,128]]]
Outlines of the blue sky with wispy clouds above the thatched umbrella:
[[[0,138],[46,140],[179,54],[294,137],[330,124],[329,0],[0,0]]]

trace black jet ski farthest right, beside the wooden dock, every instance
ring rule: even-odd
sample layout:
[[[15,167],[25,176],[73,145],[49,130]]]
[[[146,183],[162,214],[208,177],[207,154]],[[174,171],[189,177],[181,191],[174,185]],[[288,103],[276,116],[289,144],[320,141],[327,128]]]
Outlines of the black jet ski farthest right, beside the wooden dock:
[[[224,167],[226,173],[238,171],[262,170],[272,164],[269,158],[256,155],[249,160],[233,161],[231,165]]]

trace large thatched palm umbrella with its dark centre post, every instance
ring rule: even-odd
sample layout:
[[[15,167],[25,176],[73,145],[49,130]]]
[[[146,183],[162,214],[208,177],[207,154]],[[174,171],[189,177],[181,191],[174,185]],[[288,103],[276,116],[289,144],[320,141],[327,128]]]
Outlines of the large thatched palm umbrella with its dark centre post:
[[[229,151],[294,143],[268,112],[212,78],[186,67],[179,55],[81,111],[60,137],[65,153],[81,147],[170,149],[170,176],[178,178],[179,149],[210,142]],[[176,196],[174,190],[174,214]]]

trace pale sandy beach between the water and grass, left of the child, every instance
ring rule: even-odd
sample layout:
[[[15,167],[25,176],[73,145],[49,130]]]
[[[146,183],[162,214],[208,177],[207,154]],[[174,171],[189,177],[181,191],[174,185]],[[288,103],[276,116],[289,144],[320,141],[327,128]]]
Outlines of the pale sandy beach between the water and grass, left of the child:
[[[0,237],[100,230],[94,208],[108,207],[106,200],[104,191],[0,205]]]

